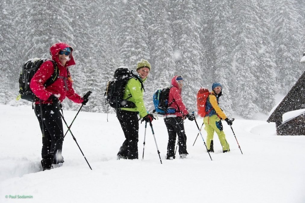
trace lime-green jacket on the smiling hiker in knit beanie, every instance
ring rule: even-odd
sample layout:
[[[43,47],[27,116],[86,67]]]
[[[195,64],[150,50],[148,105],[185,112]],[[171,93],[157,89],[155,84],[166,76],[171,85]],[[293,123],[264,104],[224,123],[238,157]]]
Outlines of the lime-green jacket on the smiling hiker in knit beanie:
[[[142,88],[140,80],[142,80],[142,83],[145,82],[147,78],[142,80],[140,77],[137,79],[131,78],[128,80],[126,86],[125,86],[125,92],[123,95],[123,99],[128,98],[131,95],[131,98],[127,99],[127,101],[131,101],[135,103],[135,108],[121,108],[122,110],[126,111],[134,111],[139,112],[140,117],[145,117],[148,113],[145,108],[144,100],[143,100],[143,93],[144,88]]]

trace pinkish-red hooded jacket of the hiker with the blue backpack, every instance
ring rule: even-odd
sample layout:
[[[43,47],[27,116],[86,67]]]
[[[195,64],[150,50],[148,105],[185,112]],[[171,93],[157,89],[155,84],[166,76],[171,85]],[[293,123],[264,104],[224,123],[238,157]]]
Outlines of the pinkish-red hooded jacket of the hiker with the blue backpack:
[[[174,87],[170,88],[170,93],[168,95],[169,104],[172,103],[174,100],[174,102],[169,107],[176,109],[176,112],[171,114],[167,113],[165,116],[176,115],[176,117],[183,117],[188,115],[188,110],[182,102],[181,89],[179,89],[178,83],[176,81],[177,77],[178,76],[172,78],[171,84]]]

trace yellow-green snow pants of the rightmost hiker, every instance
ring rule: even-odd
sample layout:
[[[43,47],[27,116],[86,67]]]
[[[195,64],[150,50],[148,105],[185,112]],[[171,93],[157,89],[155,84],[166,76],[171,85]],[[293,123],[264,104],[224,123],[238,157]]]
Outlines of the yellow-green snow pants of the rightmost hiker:
[[[206,130],[206,147],[210,149],[211,141],[213,140],[214,131],[217,133],[222,150],[230,150],[229,143],[226,140],[221,120],[217,115],[206,116],[203,118],[203,123],[205,125],[204,130]]]

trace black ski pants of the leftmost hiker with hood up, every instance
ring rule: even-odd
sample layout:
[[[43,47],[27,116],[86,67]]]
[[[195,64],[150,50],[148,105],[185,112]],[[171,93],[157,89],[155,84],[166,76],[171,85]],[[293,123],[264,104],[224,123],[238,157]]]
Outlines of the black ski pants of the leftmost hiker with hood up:
[[[44,135],[42,136],[41,164],[44,169],[48,169],[52,164],[63,163],[61,156],[63,148],[63,123],[59,110],[52,104],[36,104],[35,114],[40,129],[42,129],[43,120]]]

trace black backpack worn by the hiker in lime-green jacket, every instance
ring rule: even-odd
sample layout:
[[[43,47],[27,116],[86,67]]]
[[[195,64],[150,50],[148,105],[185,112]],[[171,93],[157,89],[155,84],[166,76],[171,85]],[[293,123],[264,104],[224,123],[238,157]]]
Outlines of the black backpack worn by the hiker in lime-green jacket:
[[[144,89],[142,80],[140,80],[138,76],[133,74],[127,67],[119,67],[115,70],[113,78],[109,80],[106,86],[104,95],[106,99],[105,104],[109,104],[114,109],[120,109],[122,107],[135,108],[135,103],[127,101],[127,99],[131,98],[131,95],[128,98],[123,99],[125,86],[127,81],[131,78],[139,80],[141,82],[141,88]]]

